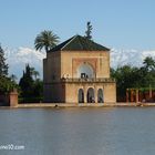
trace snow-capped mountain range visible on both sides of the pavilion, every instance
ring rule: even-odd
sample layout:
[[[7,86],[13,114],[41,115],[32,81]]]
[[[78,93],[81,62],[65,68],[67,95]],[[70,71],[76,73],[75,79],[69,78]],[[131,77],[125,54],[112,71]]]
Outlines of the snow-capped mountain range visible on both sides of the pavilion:
[[[111,51],[111,66],[131,64],[140,66],[146,56],[155,59],[155,51],[137,51],[137,50],[116,50]],[[17,50],[6,50],[6,58],[9,64],[9,73],[21,78],[25,64],[35,68],[42,78],[42,60],[45,58],[44,52],[35,51],[30,48],[19,48]]]

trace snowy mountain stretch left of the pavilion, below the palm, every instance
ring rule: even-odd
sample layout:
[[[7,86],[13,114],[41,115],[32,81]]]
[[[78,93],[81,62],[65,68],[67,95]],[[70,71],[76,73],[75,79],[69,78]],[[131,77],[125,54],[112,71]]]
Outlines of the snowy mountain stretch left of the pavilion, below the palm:
[[[22,76],[25,64],[30,64],[40,72],[42,78],[42,60],[45,58],[44,52],[35,51],[30,48],[19,48],[17,50],[7,50],[7,63],[9,64],[9,74],[16,74],[18,79]]]

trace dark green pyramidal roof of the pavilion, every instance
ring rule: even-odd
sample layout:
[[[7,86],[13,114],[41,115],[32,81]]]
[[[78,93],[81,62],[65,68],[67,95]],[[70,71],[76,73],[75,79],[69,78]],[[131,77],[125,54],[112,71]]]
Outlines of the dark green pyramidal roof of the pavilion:
[[[54,51],[110,51],[110,49],[84,37],[74,35],[51,50]]]

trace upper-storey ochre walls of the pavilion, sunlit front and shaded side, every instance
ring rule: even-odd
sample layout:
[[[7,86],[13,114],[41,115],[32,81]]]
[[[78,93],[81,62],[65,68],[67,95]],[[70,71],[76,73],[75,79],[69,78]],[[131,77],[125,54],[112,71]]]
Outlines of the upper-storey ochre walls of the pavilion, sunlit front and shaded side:
[[[110,78],[110,53],[106,51],[62,51],[48,53],[43,60],[43,80],[50,83],[61,78],[78,78],[78,68],[86,62],[96,78]]]

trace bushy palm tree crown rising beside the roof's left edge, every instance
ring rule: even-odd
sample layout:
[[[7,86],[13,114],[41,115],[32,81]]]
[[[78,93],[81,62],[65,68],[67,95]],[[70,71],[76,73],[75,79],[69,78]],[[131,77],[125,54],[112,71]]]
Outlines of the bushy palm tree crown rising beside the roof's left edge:
[[[52,31],[42,31],[37,35],[34,40],[35,50],[42,50],[44,48],[45,52],[49,52],[52,48],[54,48],[59,42],[59,37],[54,34]]]

